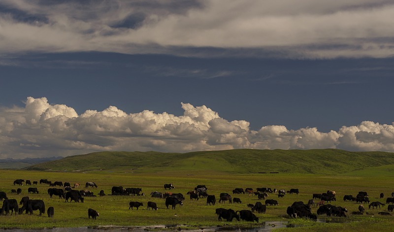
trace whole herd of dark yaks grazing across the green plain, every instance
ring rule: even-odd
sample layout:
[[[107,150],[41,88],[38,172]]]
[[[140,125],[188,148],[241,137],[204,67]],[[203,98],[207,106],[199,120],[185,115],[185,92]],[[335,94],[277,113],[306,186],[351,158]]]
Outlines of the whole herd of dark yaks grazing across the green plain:
[[[25,182],[23,179],[18,179],[14,181],[14,185],[23,185],[23,182]],[[74,202],[84,202],[84,197],[96,197],[96,195],[93,195],[93,193],[89,190],[75,190],[75,188],[78,188],[80,186],[79,183],[75,183],[73,187],[71,187],[69,182],[61,182],[61,181],[55,181],[51,182],[46,179],[41,179],[40,184],[47,184],[50,187],[56,187],[59,186],[61,188],[48,188],[48,195],[50,198],[52,198],[53,195],[59,196],[60,199],[65,199],[67,202],[69,199],[70,201]],[[25,182],[26,185],[32,185],[32,182],[30,180],[26,180]],[[33,185],[37,185],[37,181],[33,181]],[[86,182],[85,188],[89,187],[96,187],[96,183],[94,182]],[[165,190],[172,190],[175,187],[172,184],[164,184],[164,189]],[[190,195],[190,199],[200,199],[200,198],[206,198],[206,204],[208,205],[215,205],[216,203],[216,197],[215,195],[209,195],[207,193],[208,188],[205,185],[197,185],[194,190],[187,192],[187,195]],[[11,193],[13,194],[18,194],[20,195],[22,190],[18,188],[17,190],[12,189]],[[132,195],[132,196],[145,196],[142,192],[141,188],[123,188],[123,186],[113,186],[111,189],[111,195]],[[38,194],[38,190],[36,187],[30,187],[28,189],[29,194]],[[242,188],[235,188],[232,190],[232,194],[238,195],[238,194],[248,194],[249,196],[257,196],[258,199],[265,199],[268,197],[268,193],[274,193],[277,194],[279,198],[283,198],[286,194],[298,194],[299,191],[298,189],[291,189],[290,191],[285,191],[285,190],[276,190],[276,189],[271,189],[271,188],[257,188],[256,191],[254,191],[252,188],[246,188],[245,190]],[[171,205],[172,209],[175,209],[175,206],[177,204],[183,205],[182,201],[185,200],[185,197],[181,193],[171,193],[171,192],[152,192],[151,194],[152,198],[161,198],[165,199],[165,206],[168,207]],[[100,191],[99,196],[105,196],[103,190]],[[384,194],[380,195],[380,198],[384,198]],[[39,210],[39,215],[42,213],[45,213],[45,203],[41,199],[30,199],[28,196],[23,197],[21,201],[19,201],[19,204],[22,205],[22,207],[19,207],[18,202],[16,199],[8,199],[6,196],[5,192],[0,192],[0,200],[3,201],[3,205],[0,208],[0,215],[2,214],[9,214],[9,211],[11,210],[11,215],[15,212],[18,212],[19,214],[22,214],[24,211],[25,213],[33,213],[33,210]],[[315,201],[316,200],[316,201]],[[354,211],[352,214],[354,215],[362,215],[364,213],[364,206],[362,203],[368,203],[368,208],[374,209],[375,207],[379,209],[381,208],[380,206],[384,206],[384,203],[381,203],[379,201],[375,202],[370,202],[368,199],[368,194],[366,192],[359,192],[356,197],[353,197],[352,195],[345,195],[343,197],[344,201],[355,201],[356,203],[360,203],[358,209],[359,211]],[[241,199],[239,198],[232,198],[229,193],[221,193],[219,196],[219,203],[225,203],[228,201],[229,203],[242,203]],[[335,191],[327,191],[327,193],[322,193],[322,194],[313,194],[312,199],[309,199],[307,203],[304,203],[303,201],[296,201],[294,202],[291,206],[287,207],[287,214],[289,215],[290,218],[307,218],[311,220],[317,220],[317,215],[323,215],[326,214],[327,216],[336,216],[336,217],[346,217],[346,213],[348,212],[345,207],[341,206],[336,206],[336,205],[331,205],[331,201],[336,201],[336,196],[335,196]],[[329,203],[328,203],[329,202]],[[394,209],[394,192],[392,193],[391,198],[386,199],[386,204],[388,205],[388,210],[393,212]],[[216,208],[216,214],[218,215],[218,220],[226,219],[227,221],[232,221],[234,218],[239,221],[244,220],[244,221],[250,221],[250,222],[259,222],[259,218],[254,214],[255,211],[256,213],[265,213],[266,212],[266,207],[267,206],[272,206],[272,205],[278,205],[278,201],[275,199],[265,199],[264,203],[261,201],[256,202],[255,204],[247,204],[248,208],[250,209],[244,209],[244,210],[238,210],[234,211],[232,209],[225,209],[225,208]],[[130,201],[129,203],[129,209],[133,209],[134,207],[138,210],[140,206],[143,206],[142,202],[138,201]],[[148,201],[146,205],[146,209],[150,210],[157,210],[157,204],[154,201]],[[312,208],[311,206],[319,206],[319,208],[315,213],[312,213]],[[47,209],[47,214],[48,217],[53,217],[54,215],[54,208],[48,207]],[[368,213],[367,213],[368,214]],[[389,212],[379,212],[380,215],[391,215]],[[92,217],[96,219],[96,217],[99,216],[99,213],[94,210],[89,208],[88,209],[88,218]]]

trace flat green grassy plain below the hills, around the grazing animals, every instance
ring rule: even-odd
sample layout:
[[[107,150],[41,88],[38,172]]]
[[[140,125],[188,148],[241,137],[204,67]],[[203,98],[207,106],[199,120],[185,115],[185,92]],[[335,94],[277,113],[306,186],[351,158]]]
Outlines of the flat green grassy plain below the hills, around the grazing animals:
[[[191,156],[193,158],[193,156]],[[185,161],[182,161],[185,162]],[[193,164],[193,161],[191,161]],[[164,164],[165,166],[165,164]],[[33,215],[16,215],[0,216],[0,227],[4,229],[40,229],[53,227],[97,227],[97,226],[124,226],[124,227],[143,227],[155,225],[175,225],[175,229],[198,229],[209,227],[259,227],[265,221],[285,221],[293,225],[301,225],[293,229],[279,229],[279,231],[392,231],[394,219],[390,216],[380,216],[378,212],[387,211],[387,205],[383,209],[370,209],[372,216],[362,215],[353,216],[352,211],[357,211],[359,204],[354,202],[343,201],[343,195],[356,195],[359,191],[366,191],[371,201],[381,201],[385,203],[386,197],[393,192],[393,174],[392,165],[367,167],[363,170],[340,173],[336,175],[305,174],[305,173],[279,173],[279,174],[235,174],[221,173],[217,174],[214,168],[212,171],[193,171],[194,175],[187,175],[187,171],[169,170],[168,168],[161,173],[138,173],[138,172],[121,172],[119,169],[114,170],[95,170],[84,172],[54,172],[54,171],[32,171],[32,170],[0,170],[0,191],[7,194],[9,199],[17,199],[19,202],[23,196],[29,196],[31,199],[43,199],[46,208],[53,206],[55,208],[54,218],[48,218],[47,215],[38,216],[38,211]],[[218,167],[218,169],[223,167]],[[324,167],[321,167],[324,169]],[[21,186],[22,194],[11,194],[11,189],[17,189],[14,186],[15,179],[29,179],[39,181],[48,179],[53,181],[63,181],[81,183],[80,189],[85,189],[84,184],[87,181],[96,182],[98,189],[90,189],[96,195],[103,190],[107,196],[85,198],[84,203],[65,202],[56,196],[50,199],[47,194],[47,185],[38,184],[39,194],[28,194],[27,189],[30,186]],[[165,192],[164,183],[173,183],[176,187],[173,193],[182,193],[186,197],[183,206],[176,206],[176,209],[166,209],[164,199],[154,199],[149,196],[152,191]],[[190,200],[186,192],[194,189],[198,184],[205,184],[208,187],[208,193],[219,196],[220,193],[231,193],[234,188],[253,188],[270,187],[277,189],[289,190],[298,188],[299,195],[286,195],[283,199],[278,199],[277,195],[270,195],[267,199],[277,199],[279,205],[267,206],[265,214],[256,214],[259,223],[252,222],[220,222],[215,214],[215,209],[219,207],[232,208],[234,210],[248,209],[246,204],[255,203],[256,197],[247,195],[232,195],[242,200],[241,204],[223,204],[216,203],[215,206],[206,205],[205,199],[198,201]],[[111,196],[112,186],[140,187],[146,196]],[[35,186],[34,186],[35,187]],[[287,206],[294,201],[304,201],[312,198],[314,193],[323,193],[327,190],[336,191],[337,201],[332,204],[347,207],[349,217],[340,219],[340,223],[335,223],[336,218],[319,216],[319,222],[312,222],[302,219],[289,220],[286,215]],[[385,199],[379,198],[379,194],[384,193]],[[130,201],[140,201],[144,206],[139,210],[129,210]],[[159,210],[146,210],[147,201],[155,201]],[[93,208],[100,213],[97,220],[88,219],[87,210]],[[316,208],[312,209],[316,212]],[[321,223],[321,220],[330,221],[331,223]],[[171,228],[171,230],[174,230]]]

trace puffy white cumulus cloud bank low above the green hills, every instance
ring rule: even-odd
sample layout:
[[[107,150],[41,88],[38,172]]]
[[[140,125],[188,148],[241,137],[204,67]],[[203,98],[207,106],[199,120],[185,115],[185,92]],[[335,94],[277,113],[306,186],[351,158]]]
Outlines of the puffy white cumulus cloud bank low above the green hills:
[[[394,152],[394,125],[364,121],[339,131],[288,130],[283,125],[250,130],[249,122],[221,118],[202,106],[181,103],[182,116],[116,106],[78,115],[64,104],[28,97],[25,107],[0,109],[0,158],[69,156],[95,151],[190,152],[200,150],[324,149]]]

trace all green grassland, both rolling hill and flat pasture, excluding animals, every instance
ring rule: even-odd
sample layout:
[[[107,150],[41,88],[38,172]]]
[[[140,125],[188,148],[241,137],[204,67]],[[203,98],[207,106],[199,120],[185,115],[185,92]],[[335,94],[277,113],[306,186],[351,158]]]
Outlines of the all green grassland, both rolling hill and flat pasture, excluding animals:
[[[354,202],[343,201],[343,195],[356,195],[366,191],[371,201],[385,202],[378,199],[380,193],[389,197],[393,188],[393,154],[384,152],[351,153],[341,150],[309,150],[304,151],[260,151],[233,150],[219,152],[197,153],[92,153],[82,156],[68,157],[56,162],[33,166],[31,170],[0,170],[0,191],[7,193],[9,199],[19,202],[23,196],[31,199],[43,199],[46,208],[55,208],[54,218],[46,215],[0,216],[0,228],[11,229],[42,229],[53,227],[146,227],[155,225],[175,225],[174,229],[202,229],[217,227],[261,227],[264,222],[283,221],[292,225],[301,225],[294,229],[279,229],[286,231],[392,231],[394,219],[390,216],[380,216],[383,209],[370,209],[374,215],[354,216],[358,205]],[[46,170],[46,171],[37,171]],[[50,170],[51,171],[48,171]],[[280,170],[284,170],[283,172]],[[279,173],[257,173],[279,171]],[[30,186],[22,186],[22,195],[11,194],[15,179],[39,181],[63,181],[81,183],[94,181],[98,189],[90,189],[96,195],[103,190],[104,197],[85,198],[84,203],[65,202],[47,194],[47,185],[37,186],[39,194],[28,194]],[[176,209],[166,209],[164,199],[154,199],[149,196],[152,191],[165,192],[164,183],[173,183],[176,187],[172,192],[182,193],[186,199],[183,206]],[[268,199],[277,199],[279,205],[267,206],[266,214],[257,214],[259,223],[233,221],[220,222],[215,214],[219,207],[234,210],[248,209],[246,204],[255,203],[257,197],[247,195],[232,195],[242,200],[241,204],[216,203],[206,205],[205,199],[190,200],[186,192],[198,184],[205,184],[208,193],[219,196],[220,193],[231,193],[234,188],[270,187],[289,190],[298,188],[298,195],[286,195],[278,199],[270,195]],[[146,196],[111,196],[112,186],[140,187]],[[84,186],[81,189],[85,189]],[[314,193],[334,190],[337,201],[332,204],[346,207],[349,217],[339,220],[333,217],[319,216],[318,222],[292,219],[286,215],[287,206],[294,201],[304,201],[312,198]],[[139,210],[129,210],[130,201],[140,201],[144,206]],[[146,210],[147,201],[155,201],[158,211]],[[100,216],[97,220],[88,219],[88,208],[96,209]],[[312,209],[316,212],[316,208]],[[322,223],[322,221],[331,223]]]

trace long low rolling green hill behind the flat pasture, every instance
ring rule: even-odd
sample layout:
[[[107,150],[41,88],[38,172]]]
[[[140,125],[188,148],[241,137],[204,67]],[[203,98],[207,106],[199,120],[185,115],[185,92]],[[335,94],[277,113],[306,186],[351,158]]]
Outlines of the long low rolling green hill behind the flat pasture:
[[[394,165],[394,153],[337,149],[199,151],[190,153],[95,152],[26,167],[28,170],[187,174],[290,172],[343,174]]]

